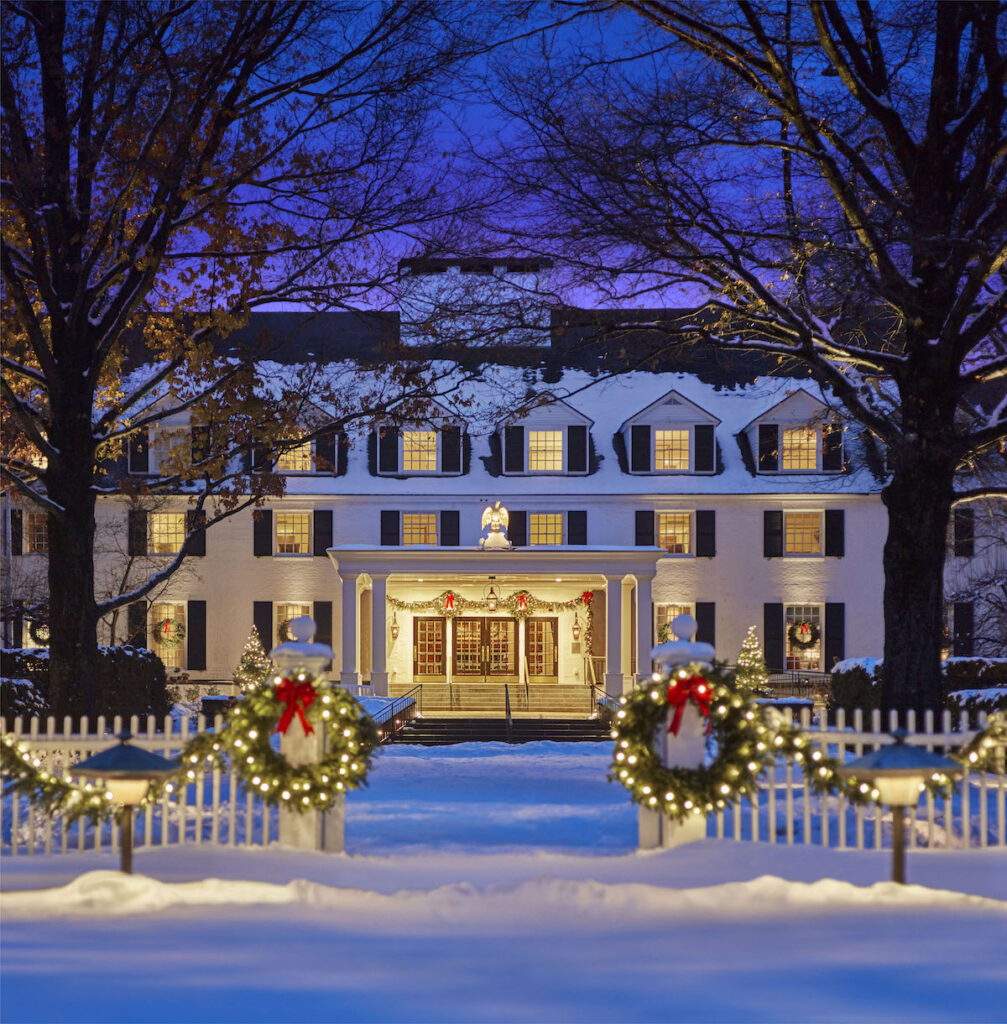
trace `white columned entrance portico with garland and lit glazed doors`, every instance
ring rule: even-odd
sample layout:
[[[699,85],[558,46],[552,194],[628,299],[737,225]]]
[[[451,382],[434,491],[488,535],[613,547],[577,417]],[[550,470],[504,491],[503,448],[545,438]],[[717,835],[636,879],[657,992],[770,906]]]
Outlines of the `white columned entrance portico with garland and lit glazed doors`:
[[[618,696],[649,675],[658,548],[328,554],[340,580],[344,685],[369,679],[383,695],[418,683],[597,683]]]

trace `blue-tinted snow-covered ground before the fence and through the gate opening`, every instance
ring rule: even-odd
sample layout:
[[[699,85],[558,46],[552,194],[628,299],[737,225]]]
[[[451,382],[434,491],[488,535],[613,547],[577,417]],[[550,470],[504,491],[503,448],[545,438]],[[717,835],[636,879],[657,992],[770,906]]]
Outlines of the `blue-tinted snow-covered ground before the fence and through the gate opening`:
[[[0,1019],[1005,1019],[1007,854],[636,853],[609,753],[386,750],[344,856],[5,857]]]

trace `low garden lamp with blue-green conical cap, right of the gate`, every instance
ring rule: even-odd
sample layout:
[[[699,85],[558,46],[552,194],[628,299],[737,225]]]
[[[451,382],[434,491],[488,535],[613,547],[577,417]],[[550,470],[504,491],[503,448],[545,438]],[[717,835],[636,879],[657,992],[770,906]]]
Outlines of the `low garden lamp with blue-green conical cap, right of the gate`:
[[[940,754],[911,746],[906,742],[908,733],[896,729],[891,733],[895,740],[880,746],[855,761],[850,761],[836,773],[844,778],[870,782],[877,792],[879,804],[891,808],[891,881],[906,883],[906,809],[916,808],[928,775],[941,774],[955,778],[962,773],[957,762]]]

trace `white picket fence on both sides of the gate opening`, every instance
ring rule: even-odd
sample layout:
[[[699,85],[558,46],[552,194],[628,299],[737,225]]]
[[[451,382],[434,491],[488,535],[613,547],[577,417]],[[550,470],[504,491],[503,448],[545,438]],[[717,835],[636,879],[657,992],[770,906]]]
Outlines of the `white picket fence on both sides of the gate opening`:
[[[109,746],[124,723],[116,718],[110,723],[99,718],[91,732],[82,719],[76,732],[70,719],[62,730],[56,722],[32,719],[27,728],[16,719],[10,730],[56,775],[67,772],[78,761]],[[827,749],[833,757],[846,760],[888,739],[887,731],[898,725],[889,718],[882,730],[881,715],[855,713],[847,724],[840,712],[829,728],[812,725],[809,709],[802,709],[800,724],[808,738]],[[960,716],[956,729],[950,712],[945,712],[935,727],[934,716],[925,717],[917,731],[915,716],[904,723],[911,735],[909,742],[933,750],[949,750],[968,742],[985,724],[980,715],[970,728],[966,715]],[[210,728],[218,729],[217,716]],[[207,729],[200,716],[196,731]],[[158,721],[137,718],[129,722],[132,742],[164,757],[174,757],[194,734],[188,719],[165,718]],[[0,732],[7,724],[0,719]],[[984,848],[1007,847],[1007,775],[1004,774],[1003,748],[998,752],[1000,770],[996,774],[972,772],[955,786],[950,799],[925,795],[908,829],[910,846]],[[763,779],[758,798],[743,800],[724,811],[710,815],[708,835],[719,839],[786,845],[814,844],[838,849],[882,849],[890,844],[891,815],[877,807],[852,807],[841,797],[823,799],[805,783],[800,766],[781,758]],[[217,769],[201,772],[195,781],[178,786],[156,806],[136,815],[137,846],[180,846],[220,844],[227,846],[263,846],[277,840],[279,815],[247,791],[234,792],[230,776]],[[84,850],[116,850],[118,828],[106,822],[94,827],[86,822],[68,824],[61,816],[52,818],[31,806],[23,797],[6,795],[2,804],[2,852],[5,855],[67,853]]]

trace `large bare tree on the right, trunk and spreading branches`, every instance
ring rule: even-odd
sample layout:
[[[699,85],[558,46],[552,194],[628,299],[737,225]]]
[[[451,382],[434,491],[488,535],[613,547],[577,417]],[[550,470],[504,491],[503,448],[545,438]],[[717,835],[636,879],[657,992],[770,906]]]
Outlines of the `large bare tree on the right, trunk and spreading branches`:
[[[950,510],[990,493],[957,474],[1005,479],[1007,6],[590,6],[501,73],[508,233],[691,297],[694,336],[800,360],[882,442],[885,702],[936,707]]]

